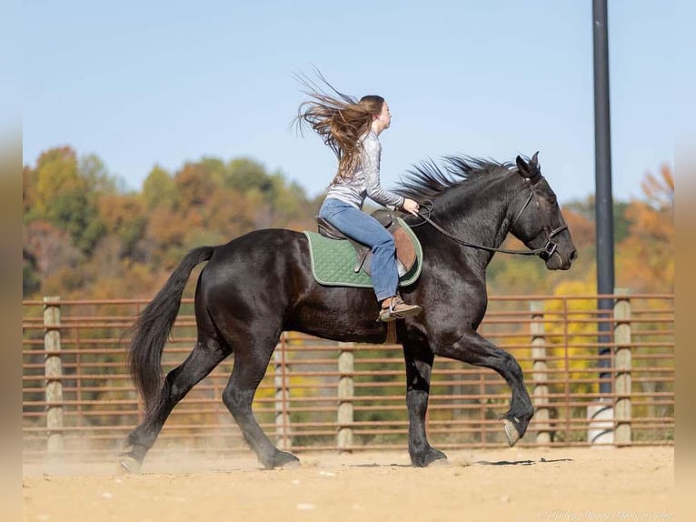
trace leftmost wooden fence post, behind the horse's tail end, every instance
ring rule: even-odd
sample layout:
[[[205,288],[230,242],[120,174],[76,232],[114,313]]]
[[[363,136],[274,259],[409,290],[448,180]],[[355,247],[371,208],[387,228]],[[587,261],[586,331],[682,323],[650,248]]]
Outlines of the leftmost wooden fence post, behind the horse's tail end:
[[[60,297],[44,297],[46,450],[49,457],[63,452],[63,366],[61,364]]]

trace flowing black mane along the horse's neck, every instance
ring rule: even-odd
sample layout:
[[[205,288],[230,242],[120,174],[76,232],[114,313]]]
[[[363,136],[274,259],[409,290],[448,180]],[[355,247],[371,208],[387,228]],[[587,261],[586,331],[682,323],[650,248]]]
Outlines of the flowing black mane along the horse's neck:
[[[471,156],[444,156],[442,165],[429,159],[413,166],[393,188],[393,192],[423,201],[440,196],[445,190],[464,183],[504,176],[515,168],[512,163],[498,163]]]

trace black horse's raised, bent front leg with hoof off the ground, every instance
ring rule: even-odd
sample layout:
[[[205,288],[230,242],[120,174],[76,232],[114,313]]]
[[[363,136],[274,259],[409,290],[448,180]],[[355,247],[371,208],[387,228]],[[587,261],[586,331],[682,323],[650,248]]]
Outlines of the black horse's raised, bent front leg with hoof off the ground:
[[[505,437],[511,447],[524,437],[529,421],[534,415],[534,407],[524,386],[522,368],[512,355],[475,331],[465,333],[450,346],[438,346],[437,355],[474,366],[485,366],[498,372],[512,391],[510,409],[501,417]]]

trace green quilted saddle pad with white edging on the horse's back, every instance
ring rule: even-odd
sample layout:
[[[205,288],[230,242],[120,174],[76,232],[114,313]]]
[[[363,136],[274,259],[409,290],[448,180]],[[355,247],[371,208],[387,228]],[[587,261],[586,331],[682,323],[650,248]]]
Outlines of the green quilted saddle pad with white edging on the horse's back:
[[[401,217],[396,218],[403,230],[413,239],[416,260],[406,274],[400,277],[399,286],[408,286],[418,279],[423,267],[423,248],[413,230],[406,225]],[[353,246],[345,239],[330,239],[316,232],[304,231],[309,240],[312,274],[318,283],[327,286],[357,286],[371,288],[373,278],[361,268],[354,272],[357,256]]]

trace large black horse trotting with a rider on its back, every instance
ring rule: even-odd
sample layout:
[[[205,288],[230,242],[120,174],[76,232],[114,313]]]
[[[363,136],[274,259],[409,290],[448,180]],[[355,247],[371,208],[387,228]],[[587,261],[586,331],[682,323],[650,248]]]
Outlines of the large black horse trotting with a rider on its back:
[[[522,437],[534,413],[515,358],[477,333],[487,306],[486,266],[512,233],[544,259],[550,270],[567,270],[577,252],[537,155],[498,164],[452,156],[444,166],[414,167],[403,196],[433,201],[425,222],[409,216],[423,246],[423,273],[402,288],[420,316],[398,321],[403,345],[409,454],[424,467],[445,455],[425,433],[435,355],[497,371],[512,389],[510,409],[501,417],[508,443]],[[371,288],[321,286],[314,281],[306,237],[281,229],[257,230],[222,246],[189,252],[134,325],[129,364],[146,409],[144,422],[128,436],[120,457],[137,471],[174,406],[225,357],[234,367],[223,401],[264,467],[295,464],[263,433],[252,412],[283,330],[337,341],[382,343],[387,326],[375,320],[378,303]],[[528,251],[524,251],[529,253]],[[195,291],[197,341],[191,354],[162,379],[164,344],[174,325],[184,286],[194,266],[208,261]]]

